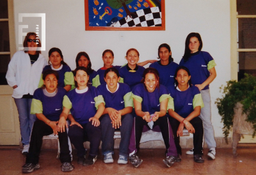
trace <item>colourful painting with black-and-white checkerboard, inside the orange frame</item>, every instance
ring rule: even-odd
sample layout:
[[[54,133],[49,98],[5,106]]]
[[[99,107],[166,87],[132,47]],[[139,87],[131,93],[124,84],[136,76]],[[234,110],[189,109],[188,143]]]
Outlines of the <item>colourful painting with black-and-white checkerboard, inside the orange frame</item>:
[[[163,0],[88,0],[90,27],[162,26]]]

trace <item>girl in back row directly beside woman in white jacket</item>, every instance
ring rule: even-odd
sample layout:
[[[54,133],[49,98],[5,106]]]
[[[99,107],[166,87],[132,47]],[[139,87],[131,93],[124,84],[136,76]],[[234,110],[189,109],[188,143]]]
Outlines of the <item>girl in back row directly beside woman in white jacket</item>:
[[[71,86],[74,86],[74,75],[67,63],[64,62],[61,50],[56,47],[52,47],[52,49],[49,50],[48,55],[49,65],[45,66],[44,70],[56,70],[60,76],[60,79],[58,80],[58,86],[64,88],[66,91],[70,91]],[[40,88],[42,85],[43,81],[41,77],[38,88]]]

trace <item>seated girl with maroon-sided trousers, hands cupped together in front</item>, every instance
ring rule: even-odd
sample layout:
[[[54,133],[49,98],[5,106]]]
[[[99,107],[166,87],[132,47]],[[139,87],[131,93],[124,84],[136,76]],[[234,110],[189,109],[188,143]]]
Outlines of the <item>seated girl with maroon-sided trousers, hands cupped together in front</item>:
[[[132,96],[136,118],[132,126],[131,139],[129,144],[129,160],[134,167],[138,167],[142,160],[136,152],[140,149],[140,139],[143,126],[152,129],[159,125],[166,146],[166,158],[163,160],[168,167],[174,164],[177,157],[177,150],[173,140],[173,133],[168,117],[166,116],[168,89],[159,84],[159,73],[155,68],[147,68],[143,73],[141,84],[132,89]]]

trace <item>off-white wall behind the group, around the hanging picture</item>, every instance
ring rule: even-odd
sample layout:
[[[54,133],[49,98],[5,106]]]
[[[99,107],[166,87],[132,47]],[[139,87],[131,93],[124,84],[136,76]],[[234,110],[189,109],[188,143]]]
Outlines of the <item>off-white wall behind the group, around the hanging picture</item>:
[[[100,1],[100,0],[99,0]],[[46,14],[46,51],[59,47],[65,61],[72,69],[76,54],[85,51],[92,65],[98,70],[102,65],[101,54],[105,49],[115,53],[114,65],[125,63],[125,52],[134,47],[140,52],[140,60],[156,59],[157,48],[168,43],[172,56],[179,63],[184,54],[184,42],[191,32],[202,36],[204,47],[214,57],[217,77],[211,84],[212,123],[215,136],[222,137],[221,117],[214,101],[220,97],[221,84],[230,80],[230,1],[229,0],[166,0],[166,31],[85,31],[83,0],[14,0],[15,34],[18,45],[18,26],[28,24],[35,31],[38,19],[18,21],[19,13]],[[24,29],[23,32],[28,32]],[[125,41],[120,41],[120,34]],[[148,66],[148,65],[147,65]]]

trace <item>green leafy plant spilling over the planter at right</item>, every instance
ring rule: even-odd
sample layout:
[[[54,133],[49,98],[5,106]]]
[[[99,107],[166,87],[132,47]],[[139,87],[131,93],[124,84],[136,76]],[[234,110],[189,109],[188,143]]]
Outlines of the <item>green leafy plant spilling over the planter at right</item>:
[[[243,112],[248,117],[246,121],[253,124],[253,137],[256,133],[256,77],[246,73],[244,75],[244,79],[239,82],[230,80],[227,86],[221,86],[224,95],[215,102],[224,125],[223,134],[226,141],[233,126],[234,107],[237,102],[243,105]]]

